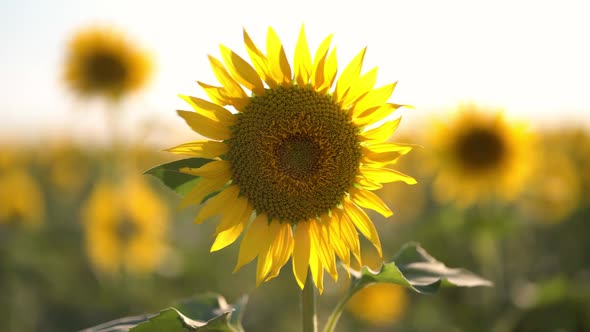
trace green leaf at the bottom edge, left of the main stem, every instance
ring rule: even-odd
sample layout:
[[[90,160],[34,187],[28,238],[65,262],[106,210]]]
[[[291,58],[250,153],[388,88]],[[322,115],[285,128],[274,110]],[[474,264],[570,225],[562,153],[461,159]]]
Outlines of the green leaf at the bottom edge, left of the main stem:
[[[241,318],[246,302],[243,297],[237,304],[229,305],[222,296],[206,293],[156,315],[121,318],[83,332],[243,332]]]

